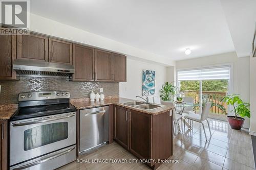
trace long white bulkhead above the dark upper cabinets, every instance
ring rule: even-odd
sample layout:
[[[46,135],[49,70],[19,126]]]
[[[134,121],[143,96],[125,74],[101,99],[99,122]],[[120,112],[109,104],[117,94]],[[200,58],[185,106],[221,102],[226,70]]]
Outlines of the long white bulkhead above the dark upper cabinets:
[[[68,39],[71,41],[95,46],[109,51],[114,51],[122,53],[125,55],[130,55],[138,57],[144,60],[151,60],[166,66],[174,65],[174,61],[162,56],[149,53],[130,45],[120,43],[81,29],[74,28],[63,23],[41,17],[35,14],[30,15],[30,30],[46,34],[50,36],[55,36],[63,39]]]

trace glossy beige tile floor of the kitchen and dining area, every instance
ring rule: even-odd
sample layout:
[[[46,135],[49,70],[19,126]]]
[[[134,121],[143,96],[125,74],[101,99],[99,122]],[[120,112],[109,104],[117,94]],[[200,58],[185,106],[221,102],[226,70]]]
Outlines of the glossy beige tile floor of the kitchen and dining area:
[[[232,130],[227,122],[209,119],[212,137],[207,126],[206,142],[202,126],[194,123],[193,129],[185,128],[185,134],[174,137],[174,153],[169,159],[179,163],[164,163],[159,170],[165,169],[254,169],[251,137],[246,130]],[[113,142],[80,159],[136,159],[135,156]],[[149,169],[142,163],[70,163],[59,168],[73,169]]]

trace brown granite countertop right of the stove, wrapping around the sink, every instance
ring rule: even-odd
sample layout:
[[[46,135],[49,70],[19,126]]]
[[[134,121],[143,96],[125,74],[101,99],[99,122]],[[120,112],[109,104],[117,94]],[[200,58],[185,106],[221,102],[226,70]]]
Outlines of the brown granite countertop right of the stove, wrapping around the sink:
[[[164,105],[162,105],[162,107],[156,108],[154,110],[145,110],[145,109],[141,109],[138,107],[133,107],[133,106],[122,104],[125,102],[131,102],[131,101],[135,101],[135,100],[125,99],[125,98],[110,98],[110,99],[104,99],[104,101],[94,101],[94,102],[91,102],[89,100],[71,100],[70,103],[72,105],[74,105],[77,109],[89,109],[89,108],[94,108],[94,107],[115,104],[118,106],[125,107],[127,109],[132,109],[132,110],[136,110],[139,112],[152,114],[152,115],[161,114],[161,113],[164,113],[164,112],[174,109],[174,106],[172,104],[167,104],[167,103],[164,103]]]

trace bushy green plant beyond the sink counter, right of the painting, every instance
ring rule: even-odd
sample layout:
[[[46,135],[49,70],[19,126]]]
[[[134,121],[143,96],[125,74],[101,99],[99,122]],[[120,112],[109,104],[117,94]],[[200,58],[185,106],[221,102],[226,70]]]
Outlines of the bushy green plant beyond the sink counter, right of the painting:
[[[172,101],[174,100],[174,94],[178,92],[178,87],[173,86],[171,83],[164,83],[162,89],[160,90],[160,98],[162,101]]]

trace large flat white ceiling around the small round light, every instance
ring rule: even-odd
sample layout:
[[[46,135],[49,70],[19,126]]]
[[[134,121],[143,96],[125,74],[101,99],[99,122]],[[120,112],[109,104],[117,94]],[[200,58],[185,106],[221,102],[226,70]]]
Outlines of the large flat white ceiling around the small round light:
[[[233,0],[33,0],[30,11],[147,52],[183,60],[235,51],[221,1]],[[243,53],[248,53],[248,43],[241,46]],[[184,54],[187,47],[192,51],[189,56]]]

